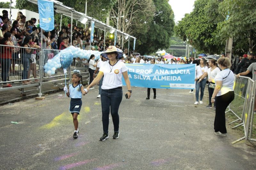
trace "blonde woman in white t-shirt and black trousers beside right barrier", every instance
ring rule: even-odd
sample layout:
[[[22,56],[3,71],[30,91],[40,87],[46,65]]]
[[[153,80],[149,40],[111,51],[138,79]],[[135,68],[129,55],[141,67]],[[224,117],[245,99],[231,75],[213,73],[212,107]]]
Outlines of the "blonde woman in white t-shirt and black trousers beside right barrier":
[[[233,89],[235,76],[229,69],[231,63],[228,58],[220,58],[217,63],[221,71],[215,76],[215,89],[212,94],[212,103],[216,101],[214,134],[227,136],[225,110],[235,97]]]

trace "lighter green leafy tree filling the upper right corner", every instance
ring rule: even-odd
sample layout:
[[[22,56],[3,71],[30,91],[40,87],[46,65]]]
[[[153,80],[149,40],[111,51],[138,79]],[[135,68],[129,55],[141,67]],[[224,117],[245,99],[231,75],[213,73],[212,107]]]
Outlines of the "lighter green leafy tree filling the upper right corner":
[[[219,5],[219,12],[224,18],[218,24],[220,36],[225,39],[233,37],[233,50],[236,53],[255,51],[255,0],[223,0]],[[229,17],[227,18],[227,16]]]

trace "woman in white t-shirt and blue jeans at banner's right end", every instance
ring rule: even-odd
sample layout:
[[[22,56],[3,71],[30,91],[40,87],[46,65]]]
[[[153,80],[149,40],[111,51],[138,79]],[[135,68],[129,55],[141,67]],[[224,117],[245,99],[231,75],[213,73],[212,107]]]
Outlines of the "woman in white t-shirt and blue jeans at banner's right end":
[[[201,77],[206,73],[208,67],[206,66],[205,59],[200,59],[200,65],[196,66],[196,102],[198,104],[199,90],[200,90],[200,104],[203,104],[204,88],[206,84],[206,77],[201,79]],[[201,81],[199,81],[201,79]]]

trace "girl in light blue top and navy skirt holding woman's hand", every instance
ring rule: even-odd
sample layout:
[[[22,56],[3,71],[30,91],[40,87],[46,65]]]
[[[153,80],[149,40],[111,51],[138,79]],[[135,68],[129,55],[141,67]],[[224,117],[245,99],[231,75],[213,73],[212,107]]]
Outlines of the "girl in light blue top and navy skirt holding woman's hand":
[[[73,135],[73,138],[78,137],[78,120],[77,116],[79,115],[79,112],[82,107],[82,95],[85,95],[86,92],[84,91],[83,81],[82,84],[80,84],[80,80],[82,79],[82,76],[80,75],[79,70],[74,70],[72,74],[72,84],[69,84],[69,89],[67,86],[64,87],[64,91],[66,92],[67,96],[71,98],[70,100],[70,106],[69,111],[72,114],[73,117],[73,123],[75,126],[75,132]]]

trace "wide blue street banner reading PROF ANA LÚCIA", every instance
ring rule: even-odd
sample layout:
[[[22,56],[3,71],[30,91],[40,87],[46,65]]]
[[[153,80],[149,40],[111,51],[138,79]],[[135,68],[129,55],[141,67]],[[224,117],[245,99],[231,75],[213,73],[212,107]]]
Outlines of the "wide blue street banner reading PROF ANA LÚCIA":
[[[195,89],[196,64],[125,64],[132,86]],[[125,84],[124,78],[122,80]]]

